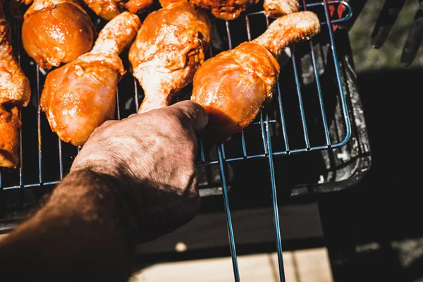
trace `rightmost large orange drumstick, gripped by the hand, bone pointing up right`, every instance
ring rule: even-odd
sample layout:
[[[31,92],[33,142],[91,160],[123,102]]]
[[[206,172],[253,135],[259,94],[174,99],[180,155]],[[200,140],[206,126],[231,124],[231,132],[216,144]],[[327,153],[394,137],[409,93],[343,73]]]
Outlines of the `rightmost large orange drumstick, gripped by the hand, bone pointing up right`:
[[[289,44],[319,31],[314,13],[291,13],[276,19],[252,42],[205,61],[194,75],[191,100],[209,114],[209,138],[223,141],[246,128],[271,101],[279,75],[276,58]]]

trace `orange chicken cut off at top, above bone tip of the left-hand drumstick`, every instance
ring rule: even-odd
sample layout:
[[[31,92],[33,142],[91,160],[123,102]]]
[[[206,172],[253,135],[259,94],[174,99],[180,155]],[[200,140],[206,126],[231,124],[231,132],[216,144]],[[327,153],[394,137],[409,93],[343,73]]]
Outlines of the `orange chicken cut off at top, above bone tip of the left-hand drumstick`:
[[[138,13],[152,6],[153,0],[84,0],[85,4],[105,20],[111,20],[123,11]]]

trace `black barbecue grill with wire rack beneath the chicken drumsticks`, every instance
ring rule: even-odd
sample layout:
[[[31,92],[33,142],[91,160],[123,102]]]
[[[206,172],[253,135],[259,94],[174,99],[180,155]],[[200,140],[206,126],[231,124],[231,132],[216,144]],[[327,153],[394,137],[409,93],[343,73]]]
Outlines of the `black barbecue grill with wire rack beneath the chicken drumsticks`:
[[[158,5],[154,4],[151,10],[160,8]],[[198,133],[200,195],[204,199],[223,197],[235,281],[240,281],[240,275],[231,208],[240,206],[243,190],[256,189],[254,207],[271,202],[278,270],[284,281],[283,226],[279,223],[278,205],[292,197],[353,187],[370,165],[366,126],[348,53],[348,35],[341,31],[342,23],[353,11],[347,1],[304,1],[301,9],[317,13],[321,32],[308,42],[288,48],[279,59],[281,74],[271,104],[264,107],[248,128],[222,144],[211,144]],[[104,20],[87,12],[97,30],[104,26]],[[140,18],[146,15],[142,13]],[[36,209],[44,195],[66,176],[80,150],[51,132],[39,106],[47,72],[23,51],[20,23],[13,19],[9,22],[13,51],[30,78],[32,101],[21,111],[19,166],[0,168],[0,233],[13,229],[27,218],[28,211]],[[262,2],[235,20],[212,20],[214,39],[207,57],[254,39],[269,23],[271,18],[264,16]],[[128,69],[128,51],[121,58]],[[191,85],[185,87],[173,102],[189,99],[191,89]],[[116,118],[135,113],[142,98],[137,80],[126,73],[116,92]],[[264,200],[257,185],[269,186],[271,197]],[[229,195],[237,201],[231,202]]]

